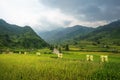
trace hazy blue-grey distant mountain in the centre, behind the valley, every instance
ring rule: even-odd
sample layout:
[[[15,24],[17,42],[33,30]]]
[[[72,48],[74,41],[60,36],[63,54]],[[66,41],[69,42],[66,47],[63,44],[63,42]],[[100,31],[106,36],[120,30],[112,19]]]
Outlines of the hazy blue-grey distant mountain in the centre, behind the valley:
[[[93,30],[94,28],[76,25],[73,27],[43,32],[39,35],[48,43],[63,43],[67,41],[72,41],[77,36],[86,35]]]

